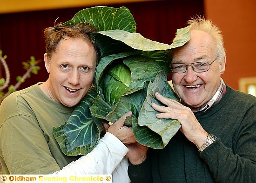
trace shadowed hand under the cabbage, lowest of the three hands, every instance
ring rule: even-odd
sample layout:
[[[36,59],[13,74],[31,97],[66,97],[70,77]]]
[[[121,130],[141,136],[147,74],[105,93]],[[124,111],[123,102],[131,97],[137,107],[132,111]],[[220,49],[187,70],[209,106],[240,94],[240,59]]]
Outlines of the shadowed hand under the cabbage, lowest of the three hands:
[[[138,142],[128,144],[126,147],[129,149],[126,157],[128,157],[130,163],[141,164],[147,158],[148,147],[139,144]]]

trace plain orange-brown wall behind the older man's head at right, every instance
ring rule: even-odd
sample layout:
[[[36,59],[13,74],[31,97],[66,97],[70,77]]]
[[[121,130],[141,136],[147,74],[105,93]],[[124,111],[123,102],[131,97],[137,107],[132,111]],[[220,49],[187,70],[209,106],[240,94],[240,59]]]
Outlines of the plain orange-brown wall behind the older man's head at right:
[[[204,3],[205,16],[224,35],[227,59],[222,78],[239,89],[239,78],[256,77],[256,0],[204,0]]]

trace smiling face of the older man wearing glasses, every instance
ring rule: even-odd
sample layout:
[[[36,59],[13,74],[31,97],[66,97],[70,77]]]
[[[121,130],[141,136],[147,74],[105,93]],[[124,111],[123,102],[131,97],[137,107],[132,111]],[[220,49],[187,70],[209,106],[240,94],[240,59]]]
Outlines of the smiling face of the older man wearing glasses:
[[[212,37],[203,31],[191,30],[189,42],[173,52],[172,61],[184,64],[207,61],[211,63],[218,56]],[[220,75],[225,70],[225,58],[213,62],[209,71],[194,72],[191,65],[185,73],[173,73],[172,83],[177,95],[192,110],[207,104],[220,85]]]

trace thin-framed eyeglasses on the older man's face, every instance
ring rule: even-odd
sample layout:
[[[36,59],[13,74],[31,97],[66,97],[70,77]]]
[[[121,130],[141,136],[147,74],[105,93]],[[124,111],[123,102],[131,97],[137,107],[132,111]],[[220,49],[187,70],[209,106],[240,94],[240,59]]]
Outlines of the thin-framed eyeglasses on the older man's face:
[[[218,57],[216,57],[216,59],[217,58]],[[172,72],[175,72],[175,73],[185,73],[189,65],[191,65],[193,71],[195,72],[206,72],[210,69],[210,65],[212,65],[212,63],[214,63],[216,59],[214,59],[211,63],[209,62],[195,62],[192,64],[171,63],[170,67]]]

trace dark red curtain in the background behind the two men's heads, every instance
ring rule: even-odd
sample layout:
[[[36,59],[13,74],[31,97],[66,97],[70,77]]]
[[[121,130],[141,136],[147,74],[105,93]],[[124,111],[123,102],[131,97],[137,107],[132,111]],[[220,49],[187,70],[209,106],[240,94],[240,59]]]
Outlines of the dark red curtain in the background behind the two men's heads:
[[[137,33],[167,44],[171,44],[176,29],[186,26],[190,17],[204,14],[203,0],[155,0],[106,6],[127,7],[137,23]],[[38,75],[31,74],[31,78],[28,78],[19,89],[48,78],[43,62],[43,29],[54,26],[54,21],[58,17],[57,22],[70,20],[75,13],[84,8],[86,7],[0,14],[0,49],[7,55],[11,84],[16,83],[16,76],[22,76],[26,72],[21,63],[30,59],[30,56],[41,60],[41,69]],[[3,71],[0,72],[0,78],[2,77],[5,77]]]

